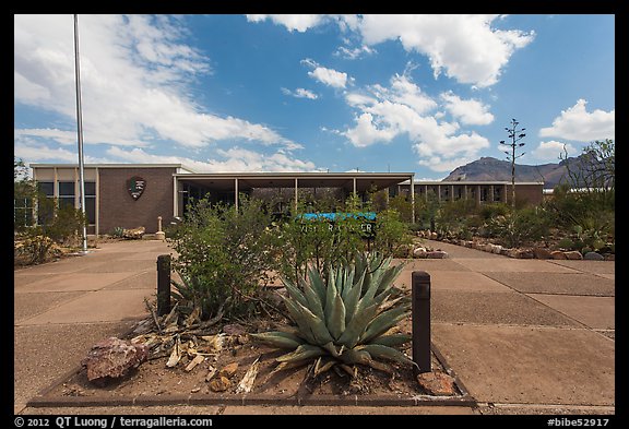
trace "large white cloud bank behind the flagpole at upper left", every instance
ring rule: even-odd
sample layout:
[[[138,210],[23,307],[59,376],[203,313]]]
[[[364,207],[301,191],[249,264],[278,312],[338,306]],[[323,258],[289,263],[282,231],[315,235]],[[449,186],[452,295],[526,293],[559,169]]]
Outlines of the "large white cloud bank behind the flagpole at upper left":
[[[15,103],[57,114],[75,129],[72,15],[14,15],[14,24]],[[299,146],[264,124],[204,111],[187,85],[210,73],[209,59],[181,41],[182,32],[164,15],[79,16],[86,144],[202,147],[239,139]]]

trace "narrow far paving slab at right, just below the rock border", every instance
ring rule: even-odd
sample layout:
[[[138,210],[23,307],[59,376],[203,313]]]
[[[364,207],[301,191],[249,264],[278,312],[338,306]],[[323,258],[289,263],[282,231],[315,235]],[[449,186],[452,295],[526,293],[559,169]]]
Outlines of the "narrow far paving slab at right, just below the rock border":
[[[456,263],[477,273],[511,272],[511,273],[575,273],[577,271],[537,259],[458,259]]]

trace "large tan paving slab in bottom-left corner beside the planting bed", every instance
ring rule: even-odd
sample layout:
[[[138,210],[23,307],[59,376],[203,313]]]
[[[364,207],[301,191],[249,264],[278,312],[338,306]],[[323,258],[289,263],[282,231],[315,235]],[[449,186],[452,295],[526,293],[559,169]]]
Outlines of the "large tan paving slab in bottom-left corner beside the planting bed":
[[[26,404],[41,389],[78,368],[90,348],[100,339],[117,336],[131,327],[128,322],[15,326],[14,404]],[[50,341],[54,338],[54,341]],[[57,410],[55,414],[59,413]]]

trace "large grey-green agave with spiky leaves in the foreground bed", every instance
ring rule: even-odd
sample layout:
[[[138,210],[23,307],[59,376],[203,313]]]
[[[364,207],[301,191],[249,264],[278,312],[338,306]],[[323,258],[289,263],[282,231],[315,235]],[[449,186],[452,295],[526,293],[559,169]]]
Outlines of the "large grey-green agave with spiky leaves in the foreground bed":
[[[391,372],[376,359],[414,365],[395,349],[411,339],[393,333],[393,327],[410,313],[411,303],[394,297],[393,281],[403,265],[390,266],[391,258],[358,253],[355,264],[329,267],[321,275],[313,267],[299,287],[283,279],[288,297],[283,297],[296,326],[290,332],[251,334],[262,343],[292,349],[278,357],[276,370],[288,365],[314,362],[313,374],[340,365],[351,374],[356,364]],[[327,277],[327,281],[324,281]]]

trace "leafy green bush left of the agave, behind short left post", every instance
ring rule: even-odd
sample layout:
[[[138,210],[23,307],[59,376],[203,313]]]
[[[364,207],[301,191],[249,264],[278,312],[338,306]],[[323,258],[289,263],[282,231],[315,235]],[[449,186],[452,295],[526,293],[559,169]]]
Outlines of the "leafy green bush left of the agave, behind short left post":
[[[271,215],[258,200],[244,195],[239,211],[202,199],[188,207],[186,218],[169,239],[178,253],[173,269],[180,309],[200,309],[202,320],[248,314],[252,299],[275,267],[275,237]]]

